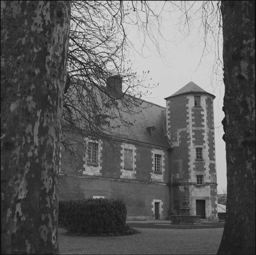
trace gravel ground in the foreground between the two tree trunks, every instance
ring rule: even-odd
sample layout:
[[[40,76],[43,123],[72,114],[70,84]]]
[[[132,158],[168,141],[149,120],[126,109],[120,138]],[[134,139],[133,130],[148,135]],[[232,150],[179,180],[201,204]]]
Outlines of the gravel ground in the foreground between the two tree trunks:
[[[138,228],[129,236],[83,237],[59,228],[59,254],[216,254],[223,228]]]

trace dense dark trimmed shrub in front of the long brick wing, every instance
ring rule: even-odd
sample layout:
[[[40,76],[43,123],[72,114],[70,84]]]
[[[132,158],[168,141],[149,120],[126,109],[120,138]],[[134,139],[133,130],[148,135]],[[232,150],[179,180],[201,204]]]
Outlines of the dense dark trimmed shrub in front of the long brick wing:
[[[122,200],[88,198],[59,201],[59,223],[70,233],[125,234],[126,206]]]

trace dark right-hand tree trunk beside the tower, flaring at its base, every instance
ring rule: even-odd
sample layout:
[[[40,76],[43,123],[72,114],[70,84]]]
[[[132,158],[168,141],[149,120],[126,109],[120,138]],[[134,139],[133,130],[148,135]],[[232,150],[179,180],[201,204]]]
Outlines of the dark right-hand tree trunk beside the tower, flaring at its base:
[[[254,1],[222,1],[227,219],[218,254],[255,254]]]

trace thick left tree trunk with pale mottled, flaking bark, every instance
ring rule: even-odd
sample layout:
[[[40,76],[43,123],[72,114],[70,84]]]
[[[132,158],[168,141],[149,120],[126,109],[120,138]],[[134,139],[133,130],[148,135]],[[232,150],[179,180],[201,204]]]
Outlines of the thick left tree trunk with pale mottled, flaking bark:
[[[1,1],[2,254],[54,254],[69,1]]]

